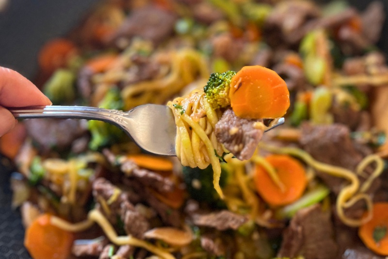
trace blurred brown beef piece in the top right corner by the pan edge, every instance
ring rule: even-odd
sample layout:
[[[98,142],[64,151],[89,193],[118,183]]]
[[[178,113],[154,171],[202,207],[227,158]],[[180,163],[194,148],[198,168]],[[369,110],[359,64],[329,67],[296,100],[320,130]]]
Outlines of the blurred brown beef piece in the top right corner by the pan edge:
[[[368,39],[368,42],[373,44],[379,40],[384,20],[383,2],[371,2],[361,15],[362,35]]]

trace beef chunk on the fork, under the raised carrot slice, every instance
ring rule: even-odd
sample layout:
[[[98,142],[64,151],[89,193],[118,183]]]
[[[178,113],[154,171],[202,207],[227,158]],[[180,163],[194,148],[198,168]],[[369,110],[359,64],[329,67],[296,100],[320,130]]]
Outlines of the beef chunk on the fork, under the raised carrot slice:
[[[227,109],[215,125],[217,140],[224,144],[240,160],[251,158],[255,152],[263,129],[260,120],[247,120],[237,117],[232,109]]]

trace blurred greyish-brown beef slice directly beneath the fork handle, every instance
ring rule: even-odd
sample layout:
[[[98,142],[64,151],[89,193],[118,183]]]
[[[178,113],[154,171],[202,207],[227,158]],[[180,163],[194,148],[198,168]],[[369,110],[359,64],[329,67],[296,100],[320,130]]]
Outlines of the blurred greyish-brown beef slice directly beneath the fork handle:
[[[28,135],[43,152],[64,151],[73,141],[86,134],[82,120],[33,119],[25,121]]]

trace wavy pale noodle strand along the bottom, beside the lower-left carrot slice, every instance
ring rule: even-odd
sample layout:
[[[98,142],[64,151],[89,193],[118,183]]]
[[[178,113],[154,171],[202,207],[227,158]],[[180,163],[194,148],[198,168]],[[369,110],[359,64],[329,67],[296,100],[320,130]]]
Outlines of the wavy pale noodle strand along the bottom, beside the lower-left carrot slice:
[[[70,232],[83,231],[91,227],[94,223],[97,223],[102,228],[108,239],[116,245],[129,244],[136,247],[142,247],[161,258],[175,259],[172,254],[168,253],[164,249],[146,241],[134,238],[132,236],[117,236],[117,233],[114,230],[112,224],[110,224],[109,221],[97,209],[91,210],[88,214],[88,219],[81,223],[72,224],[55,216],[51,217],[50,222],[53,225]]]

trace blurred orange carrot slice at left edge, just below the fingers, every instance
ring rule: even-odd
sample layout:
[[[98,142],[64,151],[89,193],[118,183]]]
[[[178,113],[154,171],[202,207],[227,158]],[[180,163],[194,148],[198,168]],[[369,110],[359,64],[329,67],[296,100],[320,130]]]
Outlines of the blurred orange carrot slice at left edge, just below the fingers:
[[[0,153],[14,159],[27,136],[23,123],[16,124],[10,132],[0,138]]]

